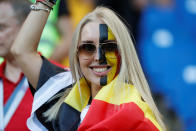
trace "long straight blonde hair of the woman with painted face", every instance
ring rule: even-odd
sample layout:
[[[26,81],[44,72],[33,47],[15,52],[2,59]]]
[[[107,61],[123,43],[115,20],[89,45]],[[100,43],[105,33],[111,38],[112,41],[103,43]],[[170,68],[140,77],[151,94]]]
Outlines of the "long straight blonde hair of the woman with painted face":
[[[132,83],[134,85],[153,111],[160,126],[165,130],[165,125],[161,120],[160,113],[151,96],[147,80],[142,71],[129,31],[125,24],[112,10],[105,7],[97,7],[94,11],[87,14],[78,24],[70,48],[71,51],[69,58],[74,80],[79,83],[80,78],[83,76],[77,57],[77,46],[80,41],[81,30],[88,22],[97,20],[103,21],[111,29],[116,38],[121,55],[121,69],[118,75],[118,80],[121,82]]]

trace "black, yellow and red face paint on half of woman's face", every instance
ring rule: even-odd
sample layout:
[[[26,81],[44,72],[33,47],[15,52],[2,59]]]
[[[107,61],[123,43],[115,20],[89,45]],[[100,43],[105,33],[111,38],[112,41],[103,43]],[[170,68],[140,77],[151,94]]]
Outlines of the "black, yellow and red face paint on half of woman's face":
[[[104,43],[107,40],[115,40],[115,37],[112,31],[108,28],[106,24],[100,24],[100,39],[99,43]],[[100,85],[105,86],[110,83],[115,76],[119,73],[120,70],[120,56],[118,52],[104,52],[101,49],[101,44],[99,45],[99,60],[100,64],[108,64],[111,66],[110,72],[107,76],[103,76],[100,79]]]

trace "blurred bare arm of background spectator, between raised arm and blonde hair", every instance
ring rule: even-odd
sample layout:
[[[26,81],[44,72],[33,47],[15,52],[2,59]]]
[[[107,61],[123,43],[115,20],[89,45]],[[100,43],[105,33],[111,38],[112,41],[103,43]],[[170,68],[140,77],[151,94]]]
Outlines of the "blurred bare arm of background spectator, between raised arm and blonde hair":
[[[73,21],[71,20],[71,14],[66,0],[60,1],[56,27],[58,29],[60,40],[58,44],[56,44],[56,47],[54,48],[50,59],[58,63],[63,63],[66,59],[64,65],[69,66],[69,47],[72,42],[74,26]]]

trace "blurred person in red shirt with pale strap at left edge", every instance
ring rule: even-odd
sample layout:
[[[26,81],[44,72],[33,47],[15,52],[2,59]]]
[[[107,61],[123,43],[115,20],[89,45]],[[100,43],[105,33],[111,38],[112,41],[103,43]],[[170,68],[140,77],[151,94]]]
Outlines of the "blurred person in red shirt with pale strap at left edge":
[[[26,131],[33,96],[28,82],[10,53],[11,45],[29,14],[26,0],[0,1],[0,130]],[[25,37],[25,36],[24,36]]]

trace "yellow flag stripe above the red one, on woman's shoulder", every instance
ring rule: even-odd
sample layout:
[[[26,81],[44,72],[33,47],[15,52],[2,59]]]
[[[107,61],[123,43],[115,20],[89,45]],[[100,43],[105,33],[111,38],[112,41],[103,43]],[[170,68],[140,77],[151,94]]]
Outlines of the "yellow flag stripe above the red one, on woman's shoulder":
[[[110,104],[120,105],[124,103],[134,102],[144,112],[144,116],[148,118],[160,131],[162,131],[160,125],[157,123],[154,114],[152,113],[149,106],[142,101],[139,92],[134,88],[133,85],[121,84],[120,90],[115,89],[117,83],[115,78],[110,84],[104,86],[94,99],[105,101]],[[120,85],[120,84],[119,84]],[[116,91],[116,92],[115,92]]]

